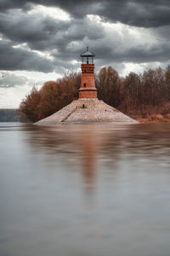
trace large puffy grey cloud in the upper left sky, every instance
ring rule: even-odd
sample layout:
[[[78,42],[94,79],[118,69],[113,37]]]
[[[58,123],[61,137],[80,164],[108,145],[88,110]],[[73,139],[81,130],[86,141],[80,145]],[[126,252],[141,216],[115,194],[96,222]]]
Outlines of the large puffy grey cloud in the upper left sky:
[[[103,29],[88,20],[54,20],[48,16],[8,10],[0,16],[0,32],[15,43],[27,43],[31,49],[64,50],[72,41],[96,40]]]

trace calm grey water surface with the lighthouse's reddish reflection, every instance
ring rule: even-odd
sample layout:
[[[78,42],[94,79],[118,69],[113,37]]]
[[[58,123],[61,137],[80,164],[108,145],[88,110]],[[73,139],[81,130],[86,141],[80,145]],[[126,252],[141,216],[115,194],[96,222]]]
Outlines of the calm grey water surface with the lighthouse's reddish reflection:
[[[169,256],[170,124],[0,123],[1,256]]]

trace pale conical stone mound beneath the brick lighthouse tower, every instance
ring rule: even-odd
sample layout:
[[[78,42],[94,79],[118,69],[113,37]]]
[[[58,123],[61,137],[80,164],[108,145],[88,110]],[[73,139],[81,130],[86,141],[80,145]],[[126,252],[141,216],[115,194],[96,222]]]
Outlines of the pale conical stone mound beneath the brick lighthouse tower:
[[[131,119],[103,101],[98,99],[79,99],[47,118],[39,120],[35,125],[90,122],[138,123],[138,121]]]

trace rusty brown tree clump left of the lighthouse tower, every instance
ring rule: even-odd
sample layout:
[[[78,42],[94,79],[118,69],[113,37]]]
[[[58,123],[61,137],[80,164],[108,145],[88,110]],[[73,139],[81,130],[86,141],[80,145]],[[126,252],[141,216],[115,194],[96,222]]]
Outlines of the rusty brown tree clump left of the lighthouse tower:
[[[79,73],[71,73],[56,82],[46,82],[40,90],[33,87],[31,93],[20,103],[22,118],[36,122],[77,99],[80,78]]]

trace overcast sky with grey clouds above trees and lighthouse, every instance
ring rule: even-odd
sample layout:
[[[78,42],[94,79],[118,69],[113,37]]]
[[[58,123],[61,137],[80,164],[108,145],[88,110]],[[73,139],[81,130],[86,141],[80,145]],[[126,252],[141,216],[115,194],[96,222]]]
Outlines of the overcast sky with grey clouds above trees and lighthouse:
[[[0,108],[18,108],[32,86],[80,71],[87,46],[96,73],[166,68],[170,0],[0,0]]]

